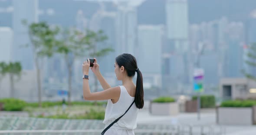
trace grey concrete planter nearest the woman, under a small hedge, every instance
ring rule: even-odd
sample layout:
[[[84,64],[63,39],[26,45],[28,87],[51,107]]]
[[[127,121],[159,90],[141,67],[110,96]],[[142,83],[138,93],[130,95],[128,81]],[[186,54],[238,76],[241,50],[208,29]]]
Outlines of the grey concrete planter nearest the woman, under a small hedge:
[[[179,105],[173,103],[151,103],[150,112],[152,115],[178,115]]]

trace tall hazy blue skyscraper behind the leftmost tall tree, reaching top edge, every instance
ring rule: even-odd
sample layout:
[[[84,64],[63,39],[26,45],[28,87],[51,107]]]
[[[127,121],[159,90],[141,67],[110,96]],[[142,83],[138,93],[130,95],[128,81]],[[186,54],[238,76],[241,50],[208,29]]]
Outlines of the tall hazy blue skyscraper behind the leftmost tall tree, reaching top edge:
[[[20,61],[23,69],[33,70],[34,59],[28,28],[23,25],[22,21],[26,20],[28,24],[38,22],[38,1],[37,0],[13,0],[13,60]]]

